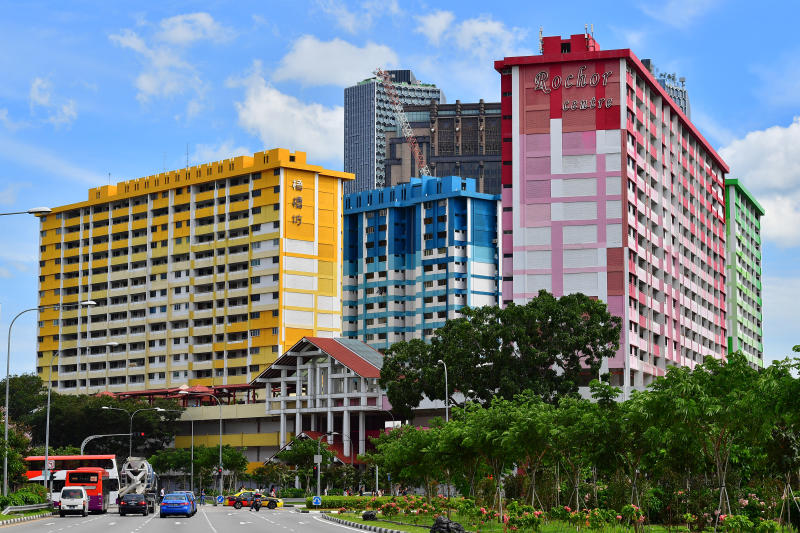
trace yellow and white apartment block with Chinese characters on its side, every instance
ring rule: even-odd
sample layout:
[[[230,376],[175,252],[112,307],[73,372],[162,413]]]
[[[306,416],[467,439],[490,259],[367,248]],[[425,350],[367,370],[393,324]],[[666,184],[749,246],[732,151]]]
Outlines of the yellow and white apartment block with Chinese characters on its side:
[[[41,217],[37,372],[59,392],[236,385],[341,330],[342,182],[275,149]],[[59,305],[91,300],[81,309]]]

